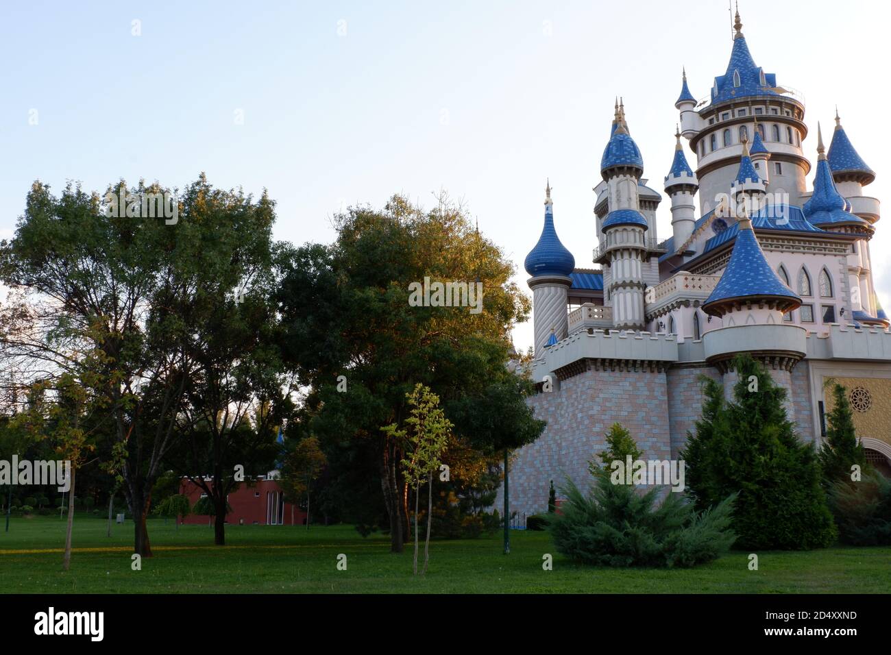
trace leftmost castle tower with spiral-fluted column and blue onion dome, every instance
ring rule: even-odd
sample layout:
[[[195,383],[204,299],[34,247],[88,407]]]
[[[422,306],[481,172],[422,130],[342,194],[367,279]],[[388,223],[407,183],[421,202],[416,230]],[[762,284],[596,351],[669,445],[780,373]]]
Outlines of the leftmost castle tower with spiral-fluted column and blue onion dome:
[[[544,228],[524,262],[532,277],[527,284],[532,290],[535,356],[544,353],[549,340],[568,336],[567,301],[572,279],[569,274],[576,267],[576,258],[560,242],[554,229],[553,201],[550,181],[545,188]]]

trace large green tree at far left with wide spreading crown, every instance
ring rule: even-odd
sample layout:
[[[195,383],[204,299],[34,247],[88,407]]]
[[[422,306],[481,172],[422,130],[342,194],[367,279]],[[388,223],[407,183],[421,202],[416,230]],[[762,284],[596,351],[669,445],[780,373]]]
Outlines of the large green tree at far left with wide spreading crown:
[[[202,174],[170,222],[147,210],[149,193],[176,195],[159,184],[128,189],[122,181],[108,192],[127,194],[135,211],[107,211],[98,193],[70,184],[59,198],[32,186],[15,237],[0,247],[0,281],[12,289],[0,311],[0,347],[7,366],[26,375],[78,374],[83,353],[101,357],[90,390],[106,403],[112,450],[124,451],[134,549],[148,557],[151,490],[178,436],[198,358],[208,356],[203,331],[219,313],[221,290],[245,280],[242,262],[266,247],[274,203],[266,193],[254,201],[215,190]]]

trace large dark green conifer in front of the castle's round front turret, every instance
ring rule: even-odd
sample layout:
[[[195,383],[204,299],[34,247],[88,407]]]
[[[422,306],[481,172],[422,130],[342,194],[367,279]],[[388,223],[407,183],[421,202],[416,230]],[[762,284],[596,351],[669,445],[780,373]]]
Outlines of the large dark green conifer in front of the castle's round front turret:
[[[704,415],[712,413],[714,420],[698,423],[682,454],[692,495],[700,507],[709,507],[738,494],[733,530],[740,548],[831,544],[837,533],[819,463],[786,416],[786,389],[751,356],[737,356],[732,365],[738,375],[733,401],[719,399],[718,385],[707,386]]]

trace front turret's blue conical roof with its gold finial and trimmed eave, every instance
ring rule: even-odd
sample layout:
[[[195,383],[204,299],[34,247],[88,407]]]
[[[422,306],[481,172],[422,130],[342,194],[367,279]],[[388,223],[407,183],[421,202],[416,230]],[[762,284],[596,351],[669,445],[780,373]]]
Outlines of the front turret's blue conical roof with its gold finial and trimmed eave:
[[[781,281],[764,258],[752,222],[748,217],[740,217],[739,225],[730,261],[715,290],[702,305],[703,311],[721,316],[732,307],[749,302],[764,302],[780,311],[801,305],[801,299]]]

